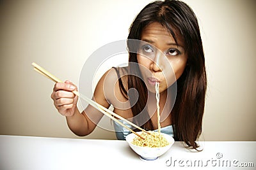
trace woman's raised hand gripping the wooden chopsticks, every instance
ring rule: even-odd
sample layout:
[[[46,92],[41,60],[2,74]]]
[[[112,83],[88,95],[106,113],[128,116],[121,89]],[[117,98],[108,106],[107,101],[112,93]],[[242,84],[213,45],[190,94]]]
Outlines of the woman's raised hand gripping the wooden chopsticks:
[[[70,81],[55,83],[51,98],[58,112],[66,117],[73,116],[77,107],[78,97],[72,92],[77,90],[76,85]]]

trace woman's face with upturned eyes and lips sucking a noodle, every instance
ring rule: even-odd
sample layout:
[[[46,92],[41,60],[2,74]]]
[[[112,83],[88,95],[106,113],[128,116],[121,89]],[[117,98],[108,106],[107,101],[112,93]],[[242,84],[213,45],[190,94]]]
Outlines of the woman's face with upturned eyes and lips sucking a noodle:
[[[178,80],[183,73],[188,56],[184,45],[177,36],[175,43],[172,35],[158,22],[145,27],[141,34],[140,48],[137,53],[142,78],[150,92],[163,92]]]

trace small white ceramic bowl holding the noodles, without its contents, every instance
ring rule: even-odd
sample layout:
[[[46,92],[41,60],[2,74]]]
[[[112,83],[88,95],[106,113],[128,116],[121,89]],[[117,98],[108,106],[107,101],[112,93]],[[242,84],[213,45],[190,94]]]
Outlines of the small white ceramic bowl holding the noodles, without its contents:
[[[141,134],[142,132],[137,132],[137,133]],[[156,159],[158,159],[158,157],[160,157],[165,152],[167,152],[174,143],[174,139],[172,138],[172,136],[170,136],[168,134],[164,134],[164,133],[161,133],[161,134],[170,143],[169,145],[164,146],[164,147],[159,147],[159,148],[150,148],[150,147],[145,147],[145,146],[133,145],[132,140],[135,137],[137,137],[136,134],[133,134],[133,133],[127,135],[125,139],[126,139],[127,143],[129,144],[129,146],[132,148],[132,150],[134,150],[134,152],[136,152],[138,155],[140,155],[140,158],[142,160],[156,160]]]

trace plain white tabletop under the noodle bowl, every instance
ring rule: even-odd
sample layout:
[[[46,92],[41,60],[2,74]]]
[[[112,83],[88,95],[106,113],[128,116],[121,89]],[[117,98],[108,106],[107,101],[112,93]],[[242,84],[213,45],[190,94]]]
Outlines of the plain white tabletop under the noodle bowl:
[[[0,169],[256,168],[256,142],[205,141],[200,145],[204,150],[194,152],[175,142],[159,159],[143,161],[126,141],[0,135]]]

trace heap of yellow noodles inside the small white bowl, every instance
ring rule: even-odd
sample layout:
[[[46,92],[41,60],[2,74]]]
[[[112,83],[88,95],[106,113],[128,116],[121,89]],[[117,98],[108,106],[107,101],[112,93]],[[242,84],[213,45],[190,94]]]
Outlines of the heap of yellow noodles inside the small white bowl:
[[[169,145],[170,143],[164,138],[163,134],[159,132],[149,131],[150,134],[146,132],[142,132],[141,136],[145,139],[141,139],[140,137],[136,136],[133,139],[132,144],[138,146],[147,146],[150,148],[159,148]]]

